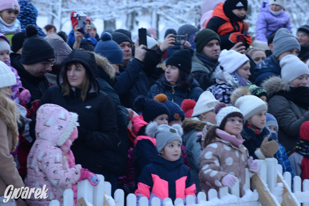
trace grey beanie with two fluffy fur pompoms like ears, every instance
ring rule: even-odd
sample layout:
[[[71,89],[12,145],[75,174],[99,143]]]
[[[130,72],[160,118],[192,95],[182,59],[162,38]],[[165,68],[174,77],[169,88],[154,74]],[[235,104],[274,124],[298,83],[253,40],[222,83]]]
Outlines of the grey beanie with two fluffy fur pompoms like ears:
[[[150,122],[146,126],[145,133],[153,138],[156,138],[157,151],[160,153],[165,145],[174,140],[179,140],[182,144],[183,129],[180,124],[173,124],[168,126],[167,124],[158,125],[156,122]]]

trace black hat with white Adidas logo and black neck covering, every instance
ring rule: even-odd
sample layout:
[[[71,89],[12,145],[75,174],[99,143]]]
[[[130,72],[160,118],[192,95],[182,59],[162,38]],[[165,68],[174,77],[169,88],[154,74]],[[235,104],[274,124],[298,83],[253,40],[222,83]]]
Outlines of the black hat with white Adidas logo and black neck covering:
[[[234,21],[242,21],[246,18],[246,15],[243,18],[236,16],[232,10],[233,9],[248,9],[248,1],[247,0],[226,0],[223,4],[223,11],[227,18],[232,19]]]

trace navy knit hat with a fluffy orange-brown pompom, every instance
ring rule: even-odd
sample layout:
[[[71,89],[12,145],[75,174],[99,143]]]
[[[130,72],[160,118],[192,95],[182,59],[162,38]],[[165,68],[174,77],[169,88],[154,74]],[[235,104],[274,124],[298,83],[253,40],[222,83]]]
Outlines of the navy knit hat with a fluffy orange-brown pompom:
[[[158,102],[163,103],[168,110],[170,111],[170,115],[168,116],[168,122],[173,120],[177,120],[181,117],[181,121],[184,120],[184,111],[181,107],[175,102],[167,100],[167,96],[164,94],[159,94],[154,97],[154,99]]]

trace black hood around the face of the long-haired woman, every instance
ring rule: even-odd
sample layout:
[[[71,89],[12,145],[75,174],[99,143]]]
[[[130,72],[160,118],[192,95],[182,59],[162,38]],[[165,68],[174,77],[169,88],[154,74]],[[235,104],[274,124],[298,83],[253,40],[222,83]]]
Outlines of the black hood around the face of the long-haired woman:
[[[74,49],[72,53],[66,58],[66,60],[62,63],[59,68],[59,72],[57,75],[57,84],[59,86],[62,85],[63,80],[66,77],[66,65],[70,62],[79,62],[83,65],[86,69],[89,81],[90,81],[90,92],[99,93],[99,82],[98,82],[98,69],[95,62],[95,55],[91,52],[81,50],[81,49]]]

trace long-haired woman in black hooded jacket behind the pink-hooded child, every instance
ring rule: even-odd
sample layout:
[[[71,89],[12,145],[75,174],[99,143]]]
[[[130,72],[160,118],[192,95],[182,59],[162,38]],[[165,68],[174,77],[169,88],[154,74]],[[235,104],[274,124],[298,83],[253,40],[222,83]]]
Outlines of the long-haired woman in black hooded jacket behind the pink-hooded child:
[[[74,49],[58,70],[57,84],[49,87],[37,108],[52,103],[76,112],[80,126],[71,147],[76,164],[108,175],[103,153],[118,149],[116,112],[111,97],[99,90],[94,54]]]

